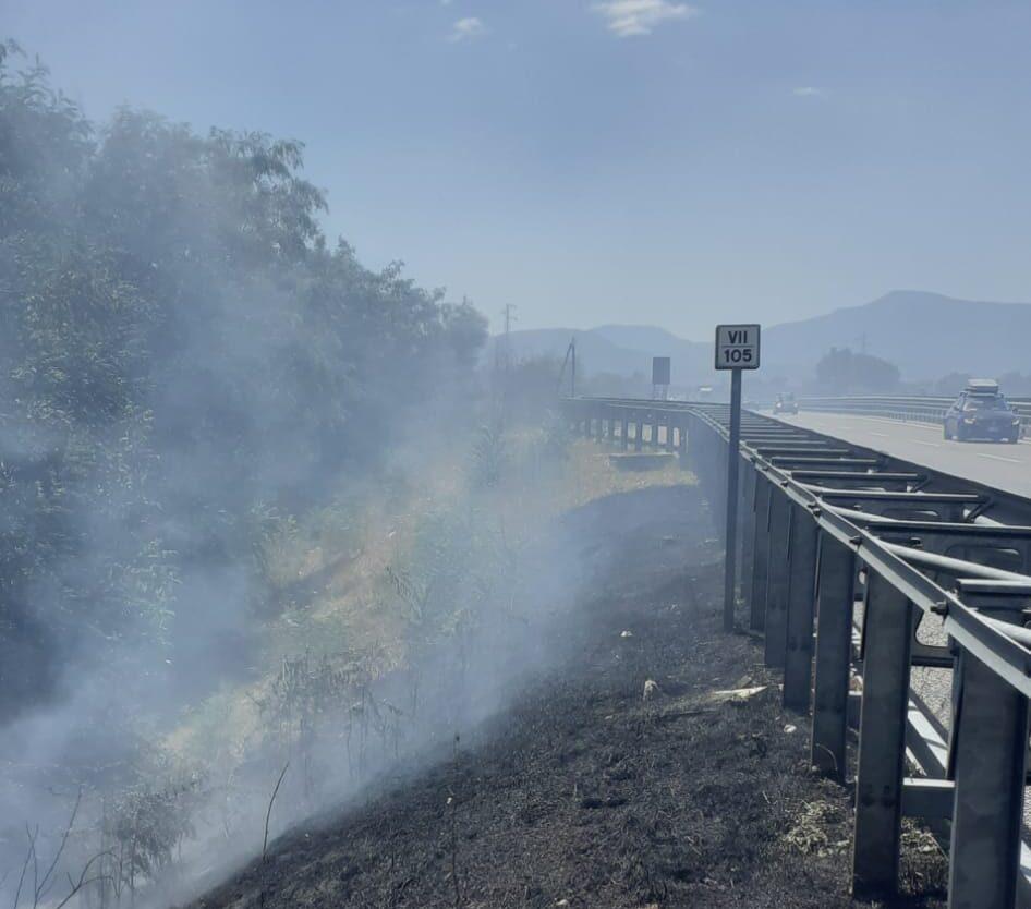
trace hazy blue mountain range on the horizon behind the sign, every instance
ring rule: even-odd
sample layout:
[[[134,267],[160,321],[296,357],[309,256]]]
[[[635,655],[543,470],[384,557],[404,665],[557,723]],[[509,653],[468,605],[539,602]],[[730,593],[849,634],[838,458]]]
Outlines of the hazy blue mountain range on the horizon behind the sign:
[[[675,385],[709,381],[712,341],[689,341],[647,325],[603,325],[584,331],[513,331],[518,359],[561,359],[571,337],[590,374],[651,375],[652,356],[671,357]],[[763,373],[797,380],[830,348],[851,348],[895,363],[908,380],[948,373],[998,376],[1031,373],[1031,303],[984,303],[925,291],[897,290],[866,303],[763,330]],[[493,354],[488,354],[493,355]]]

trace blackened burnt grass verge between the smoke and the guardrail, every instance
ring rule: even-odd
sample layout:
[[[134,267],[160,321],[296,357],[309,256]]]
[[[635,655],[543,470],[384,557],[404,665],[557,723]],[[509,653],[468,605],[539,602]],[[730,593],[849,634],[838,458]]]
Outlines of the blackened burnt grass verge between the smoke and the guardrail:
[[[555,629],[568,655],[428,769],[280,837],[196,909],[866,905],[849,895],[849,788],[809,769],[808,720],[759,642],[720,631],[696,493],[570,520],[596,582]],[[901,895],[871,905],[944,907],[946,875],[907,826]]]

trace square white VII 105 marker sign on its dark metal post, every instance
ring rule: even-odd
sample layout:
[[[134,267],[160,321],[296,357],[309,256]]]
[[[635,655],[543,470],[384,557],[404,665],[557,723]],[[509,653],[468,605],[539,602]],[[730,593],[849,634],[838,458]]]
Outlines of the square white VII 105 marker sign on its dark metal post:
[[[716,368],[730,369],[730,445],[727,452],[727,524],[724,560],[724,631],[733,631],[738,573],[738,473],[741,447],[741,371],[759,368],[757,325],[716,326]]]

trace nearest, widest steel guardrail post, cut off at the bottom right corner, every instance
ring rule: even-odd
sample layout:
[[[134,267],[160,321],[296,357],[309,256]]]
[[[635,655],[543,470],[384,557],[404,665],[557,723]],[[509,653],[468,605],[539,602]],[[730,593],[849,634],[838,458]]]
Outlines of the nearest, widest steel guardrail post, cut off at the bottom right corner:
[[[1012,909],[1020,871],[1028,699],[970,653],[961,653],[954,671],[960,678],[948,905]]]

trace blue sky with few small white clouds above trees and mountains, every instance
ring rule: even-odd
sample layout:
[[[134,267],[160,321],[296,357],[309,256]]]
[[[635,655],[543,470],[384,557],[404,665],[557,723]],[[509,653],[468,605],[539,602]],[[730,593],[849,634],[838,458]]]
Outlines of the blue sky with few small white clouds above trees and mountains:
[[[95,118],[303,140],[327,230],[494,325],[1031,300],[1031,3],[0,0]]]

